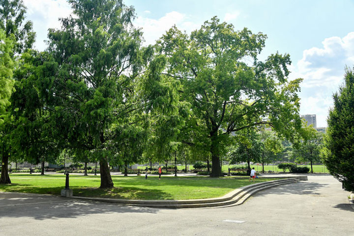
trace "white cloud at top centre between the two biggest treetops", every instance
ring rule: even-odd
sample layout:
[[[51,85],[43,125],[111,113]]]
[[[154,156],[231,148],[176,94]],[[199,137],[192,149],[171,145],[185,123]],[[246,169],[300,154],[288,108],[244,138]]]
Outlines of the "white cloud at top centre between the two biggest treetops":
[[[135,20],[134,25],[138,28],[142,28],[146,45],[154,44],[162,34],[174,25],[176,25],[178,29],[185,30],[188,33],[200,27],[200,25],[190,21],[189,17],[185,14],[177,11],[166,13],[163,17],[157,20],[139,16]]]

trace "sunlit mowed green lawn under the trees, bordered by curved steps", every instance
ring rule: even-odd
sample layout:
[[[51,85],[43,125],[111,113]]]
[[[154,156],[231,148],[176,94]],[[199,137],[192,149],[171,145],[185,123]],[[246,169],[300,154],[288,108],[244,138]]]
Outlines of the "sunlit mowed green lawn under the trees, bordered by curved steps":
[[[0,185],[0,191],[60,195],[65,186],[64,175],[11,174],[11,184]],[[115,187],[99,189],[99,176],[70,176],[74,196],[139,200],[184,200],[221,197],[232,190],[251,184],[237,177],[121,177],[112,176]],[[257,178],[255,182],[278,178]]]

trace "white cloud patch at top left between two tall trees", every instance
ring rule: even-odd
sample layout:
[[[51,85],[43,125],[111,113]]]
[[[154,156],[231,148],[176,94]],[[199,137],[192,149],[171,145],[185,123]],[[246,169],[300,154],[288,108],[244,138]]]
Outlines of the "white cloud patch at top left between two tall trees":
[[[71,7],[66,0],[24,0],[27,6],[27,18],[33,22],[36,32],[35,47],[38,50],[46,48],[48,29],[60,28],[59,18],[70,15]]]

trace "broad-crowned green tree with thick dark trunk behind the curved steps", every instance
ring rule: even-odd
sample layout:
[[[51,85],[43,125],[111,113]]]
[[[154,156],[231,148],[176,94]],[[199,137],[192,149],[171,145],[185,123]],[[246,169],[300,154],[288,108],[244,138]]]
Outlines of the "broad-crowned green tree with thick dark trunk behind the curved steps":
[[[195,126],[203,127],[200,136],[209,140],[212,177],[221,176],[220,153],[231,134],[269,124],[290,138],[301,126],[301,79],[287,80],[289,55],[257,59],[265,40],[263,33],[236,31],[214,17],[190,35],[173,27],[158,42],[168,62],[164,74],[180,81],[181,100],[191,104]]]

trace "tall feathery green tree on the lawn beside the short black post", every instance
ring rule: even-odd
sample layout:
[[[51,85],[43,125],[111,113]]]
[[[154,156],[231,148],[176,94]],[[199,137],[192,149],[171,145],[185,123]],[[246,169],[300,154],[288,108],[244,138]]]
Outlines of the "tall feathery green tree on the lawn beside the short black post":
[[[115,156],[108,149],[110,142],[126,133],[121,128],[140,122],[133,121],[137,114],[149,114],[164,103],[154,102],[163,87],[151,86],[163,83],[156,73],[162,67],[158,58],[151,60],[152,47],[141,47],[142,32],[132,25],[132,7],[121,0],[69,3],[75,17],[61,19],[62,29],[49,30],[48,51],[54,60],[46,64],[44,71],[51,73],[43,77],[40,91],[55,111],[54,136],[98,158],[100,187],[111,188],[108,163]]]

